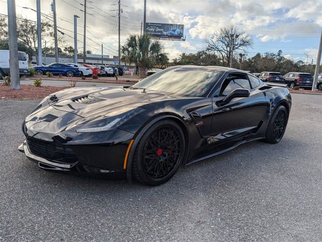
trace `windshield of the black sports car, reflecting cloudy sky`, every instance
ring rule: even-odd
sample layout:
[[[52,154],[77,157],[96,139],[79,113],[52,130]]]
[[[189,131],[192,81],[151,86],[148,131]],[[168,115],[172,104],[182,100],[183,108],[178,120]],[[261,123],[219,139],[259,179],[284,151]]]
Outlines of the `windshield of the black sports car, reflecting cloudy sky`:
[[[171,68],[146,77],[133,85],[154,91],[203,96],[218,81],[222,72],[201,68]]]

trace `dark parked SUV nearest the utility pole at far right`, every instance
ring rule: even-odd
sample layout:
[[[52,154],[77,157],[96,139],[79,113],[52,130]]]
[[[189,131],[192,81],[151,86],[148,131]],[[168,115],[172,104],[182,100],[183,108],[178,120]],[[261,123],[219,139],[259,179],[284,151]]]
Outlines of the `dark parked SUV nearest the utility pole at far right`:
[[[312,89],[313,76],[309,73],[290,72],[287,73],[284,77],[290,89],[293,89],[294,87]]]

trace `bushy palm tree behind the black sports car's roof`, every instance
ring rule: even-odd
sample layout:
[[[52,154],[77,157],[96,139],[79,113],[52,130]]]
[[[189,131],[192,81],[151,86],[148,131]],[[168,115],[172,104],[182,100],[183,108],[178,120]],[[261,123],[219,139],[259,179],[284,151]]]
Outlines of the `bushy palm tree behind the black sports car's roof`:
[[[161,51],[158,40],[152,40],[149,34],[131,34],[122,46],[122,61],[139,67],[139,77],[146,76],[146,70],[151,69],[156,56]]]

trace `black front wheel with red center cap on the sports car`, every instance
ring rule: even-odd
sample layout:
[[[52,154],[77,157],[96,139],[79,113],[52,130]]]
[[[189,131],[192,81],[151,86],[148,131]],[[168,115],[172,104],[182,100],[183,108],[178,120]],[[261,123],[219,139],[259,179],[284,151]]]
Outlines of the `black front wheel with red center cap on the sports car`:
[[[170,119],[160,120],[142,136],[132,160],[132,174],[140,183],[166,183],[184,159],[185,139],[180,126]]]

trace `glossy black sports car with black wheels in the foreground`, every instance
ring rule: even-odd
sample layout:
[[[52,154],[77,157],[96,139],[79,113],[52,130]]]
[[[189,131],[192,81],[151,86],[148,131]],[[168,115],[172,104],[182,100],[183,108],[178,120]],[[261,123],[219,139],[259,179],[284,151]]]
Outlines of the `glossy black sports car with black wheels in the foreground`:
[[[124,175],[159,185],[191,164],[254,140],[278,143],[287,88],[245,71],[176,66],[132,87],[70,88],[44,98],[19,147],[46,170]]]

